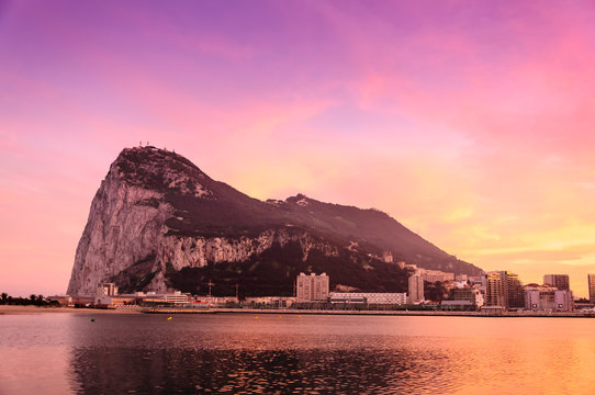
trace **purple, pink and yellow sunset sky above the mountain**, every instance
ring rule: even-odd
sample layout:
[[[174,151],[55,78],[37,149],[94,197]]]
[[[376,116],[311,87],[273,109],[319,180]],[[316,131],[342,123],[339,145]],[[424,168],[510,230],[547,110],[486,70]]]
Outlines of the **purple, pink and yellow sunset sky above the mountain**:
[[[581,0],[0,0],[0,291],[64,293],[110,163],[149,142],[587,296],[594,20]]]

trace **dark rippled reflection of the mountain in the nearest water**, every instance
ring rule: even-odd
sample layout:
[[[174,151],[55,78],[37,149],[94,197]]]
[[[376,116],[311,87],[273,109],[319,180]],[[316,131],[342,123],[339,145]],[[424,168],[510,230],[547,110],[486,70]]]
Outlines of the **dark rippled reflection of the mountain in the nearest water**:
[[[403,350],[76,349],[85,393],[425,393],[448,392],[446,356]]]

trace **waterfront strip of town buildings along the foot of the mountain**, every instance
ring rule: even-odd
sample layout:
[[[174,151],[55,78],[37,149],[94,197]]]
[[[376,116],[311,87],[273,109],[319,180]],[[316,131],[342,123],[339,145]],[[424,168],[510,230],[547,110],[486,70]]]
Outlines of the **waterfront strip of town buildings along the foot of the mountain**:
[[[94,295],[54,295],[47,300],[60,306],[128,309],[143,312],[336,312],[336,313],[436,313],[448,315],[585,315],[595,314],[595,274],[588,274],[590,300],[574,300],[568,274],[545,274],[543,283],[523,284],[517,274],[491,271],[467,275],[408,266],[408,292],[330,291],[326,273],[300,273],[293,296],[194,295],[169,293],[119,293],[114,283],[98,284]],[[428,297],[427,286],[438,286],[440,300]],[[436,292],[434,292],[436,295]]]

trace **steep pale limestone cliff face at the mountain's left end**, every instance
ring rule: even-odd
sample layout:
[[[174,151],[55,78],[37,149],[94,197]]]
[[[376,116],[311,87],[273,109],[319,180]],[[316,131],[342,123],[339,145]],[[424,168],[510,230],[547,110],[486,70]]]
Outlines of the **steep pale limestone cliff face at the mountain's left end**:
[[[91,204],[68,294],[92,295],[100,282],[154,255],[171,215],[162,193],[131,185],[112,165]]]

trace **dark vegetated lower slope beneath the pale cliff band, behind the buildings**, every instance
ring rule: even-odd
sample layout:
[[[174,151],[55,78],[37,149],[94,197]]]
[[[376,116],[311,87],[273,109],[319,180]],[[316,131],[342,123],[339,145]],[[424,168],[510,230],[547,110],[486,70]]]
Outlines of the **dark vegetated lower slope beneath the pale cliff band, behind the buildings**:
[[[296,275],[303,273],[327,273],[330,287],[349,285],[366,292],[406,292],[407,272],[397,266],[349,251],[339,250],[337,257],[328,257],[311,250],[302,259],[300,242],[290,241],[283,247],[273,244],[262,255],[243,262],[220,262],[203,268],[183,268],[166,273],[169,286],[197,294],[211,292],[215,296],[235,295],[236,284],[240,297],[291,296]]]

